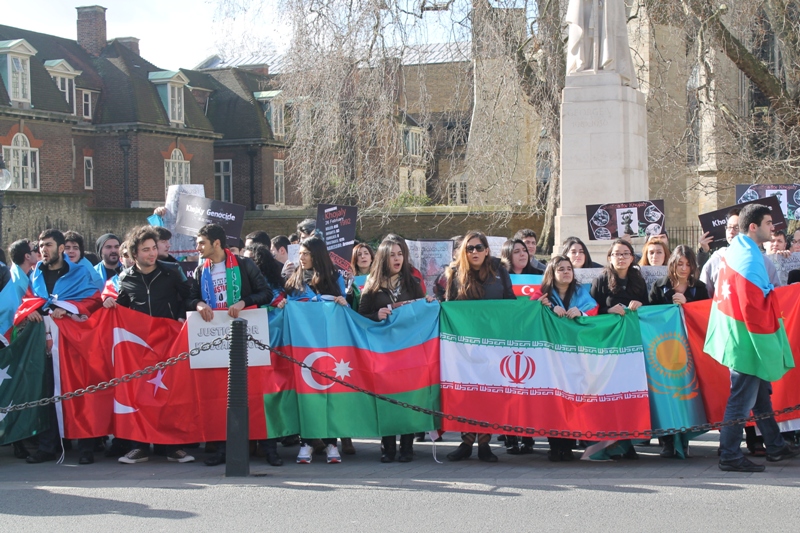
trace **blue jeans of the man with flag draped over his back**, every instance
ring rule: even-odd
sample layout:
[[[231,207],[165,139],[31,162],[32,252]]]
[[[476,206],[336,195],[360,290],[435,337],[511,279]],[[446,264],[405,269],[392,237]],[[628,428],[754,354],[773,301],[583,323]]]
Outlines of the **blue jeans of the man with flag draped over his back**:
[[[725,418],[735,420],[745,418],[753,411],[754,415],[772,412],[772,384],[763,379],[742,374],[731,369],[731,395],[728,404],[725,406]],[[761,435],[764,436],[764,445],[767,453],[776,453],[784,447],[785,442],[781,437],[781,430],[775,417],[765,418],[756,422]],[[744,424],[726,426],[720,430],[719,447],[721,450],[720,460],[731,461],[742,457],[740,449],[742,445],[742,429]]]

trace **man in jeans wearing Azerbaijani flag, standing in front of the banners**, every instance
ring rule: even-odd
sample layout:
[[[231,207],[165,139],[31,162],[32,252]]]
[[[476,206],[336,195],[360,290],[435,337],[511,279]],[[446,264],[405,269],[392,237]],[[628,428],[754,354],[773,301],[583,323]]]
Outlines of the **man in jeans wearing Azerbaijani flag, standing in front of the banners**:
[[[794,359],[783,327],[781,311],[769,281],[761,246],[772,236],[769,207],[750,204],[739,213],[739,234],[720,259],[719,279],[703,350],[730,368],[731,393],[724,422],[772,412],[772,381],[791,368]],[[800,455],[800,447],[787,444],[775,417],[757,420],[764,436],[767,461]],[[747,459],[741,451],[744,424],[720,430],[720,470],[763,472],[764,465]]]

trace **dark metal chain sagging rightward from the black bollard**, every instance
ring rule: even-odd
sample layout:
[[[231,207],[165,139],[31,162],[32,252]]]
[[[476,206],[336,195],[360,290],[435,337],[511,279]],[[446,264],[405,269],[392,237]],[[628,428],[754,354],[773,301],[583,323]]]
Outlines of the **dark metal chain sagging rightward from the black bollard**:
[[[568,430],[537,429],[537,428],[522,427],[522,426],[511,426],[507,424],[498,424],[498,423],[486,422],[483,420],[476,420],[474,418],[467,418],[465,416],[456,416],[444,413],[442,411],[435,411],[433,409],[428,409],[426,407],[421,407],[419,405],[410,404],[408,402],[401,402],[394,398],[384,396],[383,394],[378,394],[372,391],[368,391],[362,387],[359,387],[358,385],[347,383],[346,381],[339,379],[336,376],[331,376],[329,374],[326,374],[325,372],[322,372],[321,370],[317,370],[316,368],[313,368],[302,361],[298,361],[291,355],[285,354],[280,350],[272,348],[268,344],[260,342],[252,335],[248,336],[247,340],[252,341],[255,344],[255,346],[260,350],[268,350],[277,355],[278,357],[286,359],[287,361],[294,363],[302,368],[308,369],[309,371],[313,372],[314,374],[317,374],[322,378],[329,379],[335,383],[343,385],[354,391],[362,392],[364,394],[372,396],[373,398],[377,398],[378,400],[382,400],[384,402],[388,402],[393,405],[403,407],[405,409],[411,409],[412,411],[416,411],[418,413],[423,413],[437,418],[442,418],[444,420],[451,420],[454,422],[459,422],[461,424],[477,426],[483,430],[489,430],[489,429],[494,430],[494,431],[482,431],[482,433],[498,433],[498,434],[516,433],[525,436],[560,437],[560,438],[601,440],[601,441],[620,440],[620,439],[640,439],[640,438],[650,439],[654,437],[663,437],[665,435],[676,435],[678,433],[702,433],[705,431],[720,429],[726,426],[745,424],[747,422],[762,420],[776,415],[782,415],[785,413],[791,413],[793,411],[800,410],[800,404],[798,404],[792,407],[786,407],[785,409],[778,409],[771,413],[762,413],[760,415],[753,415],[747,418],[737,418],[735,420],[728,420],[726,422],[708,422],[706,424],[699,424],[696,426],[689,426],[689,427],[669,428],[669,429],[647,429],[644,431],[568,431]]]

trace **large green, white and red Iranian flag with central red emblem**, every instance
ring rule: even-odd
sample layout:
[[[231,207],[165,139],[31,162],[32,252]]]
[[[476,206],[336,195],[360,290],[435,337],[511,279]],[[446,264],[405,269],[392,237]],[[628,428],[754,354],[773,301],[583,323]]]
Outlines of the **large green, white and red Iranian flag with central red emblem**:
[[[535,303],[442,305],[442,410],[542,429],[650,429],[636,313],[570,320]],[[449,420],[443,429],[480,431]]]

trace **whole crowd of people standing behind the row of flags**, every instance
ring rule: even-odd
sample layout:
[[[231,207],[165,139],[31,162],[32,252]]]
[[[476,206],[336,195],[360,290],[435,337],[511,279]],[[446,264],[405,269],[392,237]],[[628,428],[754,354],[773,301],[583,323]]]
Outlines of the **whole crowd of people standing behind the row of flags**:
[[[728,214],[728,242],[740,233],[752,234],[751,219],[740,221],[739,217],[738,210]],[[668,236],[657,235],[648,238],[637,254],[630,238],[620,238],[610,242],[606,261],[601,265],[592,260],[587,246],[579,238],[569,237],[544,263],[536,256],[537,235],[530,229],[520,230],[508,239],[500,257],[492,256],[482,232],[470,231],[452,238],[453,261],[434,282],[432,296],[426,297],[428,291],[423,276],[409,261],[405,239],[394,234],[387,235],[376,249],[368,243],[356,244],[352,269],[342,273],[331,262],[314,220],[303,220],[297,225],[297,233],[289,236],[270,238],[266,231],[254,231],[236,247],[228,246],[223,228],[209,224],[197,234],[198,265],[193,276],[186,276],[170,255],[170,238],[169,230],[164,227],[142,226],[129,231],[125,238],[111,233],[102,235],[92,252],[86,249],[78,232],[48,229],[34,241],[21,239],[10,246],[11,266],[0,267],[0,289],[7,284],[15,287],[20,304],[15,322],[20,328],[26,321],[42,321],[46,315],[56,320],[68,317],[85,320],[101,306],[122,306],[172,320],[184,320],[188,311],[196,311],[208,321],[215,311],[227,312],[235,318],[245,308],[282,308],[288,301],[332,301],[380,322],[386,320],[398,304],[421,298],[429,301],[434,298],[439,301],[515,299],[510,275],[541,274],[541,286],[531,300],[558,317],[575,319],[597,314],[625,315],[644,305],[683,305],[713,297],[726,251],[722,248],[712,253],[708,234],[701,238],[697,252],[686,245],[671,249]],[[782,232],[762,240],[764,242],[759,244],[767,245],[766,254],[800,251],[800,230],[794,232],[790,243]],[[295,243],[299,244],[298,264],[289,260],[289,247]],[[640,266],[666,266],[667,275],[648,290]],[[602,268],[590,286],[579,283],[575,275],[575,269],[585,268]],[[766,256],[764,268],[772,284],[780,285],[775,267]],[[356,276],[367,276],[363,287],[354,283]],[[59,437],[55,409],[49,410],[49,416],[50,429],[35,439],[36,450],[28,450],[32,441],[14,443],[16,457],[28,463],[52,461],[58,458],[64,444],[70,444],[62,443]],[[741,436],[741,428],[739,434]],[[763,438],[748,430],[746,444],[750,453],[780,460],[794,452],[793,433],[784,434],[782,439],[788,442],[779,444],[776,444],[774,431],[769,436],[772,440],[765,448]],[[413,460],[413,443],[415,438],[421,437],[400,435],[398,448],[397,435],[382,436],[381,461]],[[462,433],[461,443],[447,457],[451,461],[466,460],[477,443],[478,459],[497,462],[498,457],[490,446],[491,437],[488,433]],[[509,454],[533,452],[534,442],[530,437],[505,435],[500,438]],[[723,447],[722,451],[728,454],[723,459],[733,457],[741,463],[732,451],[730,442],[733,439],[730,437],[728,448]],[[278,453],[278,439],[252,444],[254,453],[261,454],[269,464],[280,466],[283,463]],[[328,463],[341,462],[340,447],[344,454],[356,452],[352,439],[347,437],[341,438],[341,446],[336,438],[306,439],[302,435],[284,438],[282,444],[299,445],[296,462],[301,464],[311,462],[315,454],[324,455]],[[582,443],[549,438],[548,444],[551,461],[569,461]],[[633,444],[617,443],[612,456],[637,458]],[[674,438],[662,439],[661,446],[662,457],[676,455]],[[95,454],[100,452],[125,464],[147,461],[151,453],[166,455],[168,461],[191,462],[194,457],[186,451],[191,447],[191,443],[161,446],[119,438],[77,442],[80,464],[93,463]],[[224,442],[206,443],[206,451],[209,456],[205,464],[214,466],[225,462]]]

